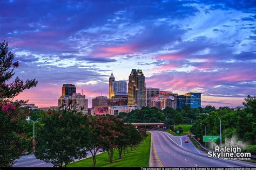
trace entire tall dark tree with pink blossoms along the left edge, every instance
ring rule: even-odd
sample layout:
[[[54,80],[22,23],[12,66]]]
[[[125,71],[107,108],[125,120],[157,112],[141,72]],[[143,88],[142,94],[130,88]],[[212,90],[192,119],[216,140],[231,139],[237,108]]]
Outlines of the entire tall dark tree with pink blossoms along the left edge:
[[[17,102],[10,101],[24,89],[35,87],[37,84],[35,79],[23,83],[18,77],[8,84],[15,74],[15,68],[19,66],[18,61],[12,60],[14,54],[9,52],[8,43],[0,42],[0,167],[12,166],[22,155],[26,145],[26,114],[19,109]]]

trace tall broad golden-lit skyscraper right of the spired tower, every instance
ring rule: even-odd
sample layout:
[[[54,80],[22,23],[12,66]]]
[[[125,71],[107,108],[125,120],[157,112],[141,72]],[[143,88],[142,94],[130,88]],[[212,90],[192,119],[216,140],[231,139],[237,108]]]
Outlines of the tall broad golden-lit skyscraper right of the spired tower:
[[[128,83],[128,105],[142,108],[146,105],[145,76],[141,69],[132,69]]]

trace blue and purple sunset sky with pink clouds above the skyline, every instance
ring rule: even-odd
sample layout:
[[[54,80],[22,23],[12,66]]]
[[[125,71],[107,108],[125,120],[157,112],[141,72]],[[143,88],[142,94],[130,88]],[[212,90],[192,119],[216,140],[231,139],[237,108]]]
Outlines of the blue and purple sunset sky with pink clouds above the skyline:
[[[113,70],[146,87],[202,93],[204,107],[237,107],[256,95],[256,1],[0,1],[0,41],[37,79],[18,100],[57,105],[63,83],[108,96]]]

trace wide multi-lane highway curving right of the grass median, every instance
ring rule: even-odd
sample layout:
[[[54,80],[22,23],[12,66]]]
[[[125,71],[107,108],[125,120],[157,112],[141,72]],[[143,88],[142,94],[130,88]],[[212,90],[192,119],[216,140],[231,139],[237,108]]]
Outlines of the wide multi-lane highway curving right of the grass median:
[[[154,149],[163,167],[256,167],[256,164],[209,158],[192,143],[184,143],[186,136],[173,136],[164,131],[150,131]]]

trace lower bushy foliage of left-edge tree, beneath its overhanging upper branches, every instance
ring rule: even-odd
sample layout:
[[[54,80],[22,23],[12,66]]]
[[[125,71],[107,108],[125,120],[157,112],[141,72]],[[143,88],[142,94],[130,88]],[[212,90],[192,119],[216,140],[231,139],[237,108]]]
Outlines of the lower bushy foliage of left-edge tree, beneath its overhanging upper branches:
[[[26,115],[18,103],[2,105],[0,109],[0,167],[11,167],[26,149],[23,126]]]

